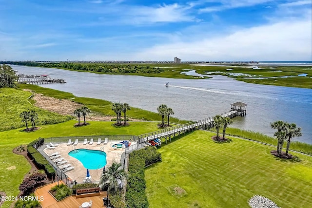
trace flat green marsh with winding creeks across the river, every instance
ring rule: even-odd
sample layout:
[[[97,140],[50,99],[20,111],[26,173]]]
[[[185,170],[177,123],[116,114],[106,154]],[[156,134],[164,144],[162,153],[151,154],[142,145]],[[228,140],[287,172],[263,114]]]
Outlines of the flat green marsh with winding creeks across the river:
[[[88,65],[88,63],[85,63]],[[102,67],[105,65],[100,63]],[[146,64],[114,64],[114,65],[130,65],[130,66],[143,66],[146,67]],[[222,65],[222,64],[220,64]],[[164,71],[161,73],[99,73],[93,71],[87,71],[90,73],[97,74],[124,74],[124,75],[136,75],[136,76],[150,76],[150,77],[166,77],[166,78],[184,78],[184,79],[203,79],[198,76],[188,76],[185,74],[181,74],[181,72],[185,72],[185,69],[194,69],[196,73],[206,75],[205,72],[215,72],[215,75],[222,75],[228,77],[237,78],[239,81],[255,83],[255,84],[266,84],[266,85],[278,85],[278,86],[287,86],[287,87],[301,87],[301,88],[312,88],[311,77],[312,77],[312,67],[311,66],[258,66],[259,69],[253,69],[251,65],[234,65],[229,64],[229,66],[211,66],[206,64],[205,66],[201,66],[200,64],[149,64],[151,68],[162,68]],[[256,64],[254,64],[256,66]],[[170,67],[170,68],[169,68]],[[55,68],[55,67],[54,67]],[[234,68],[232,71],[227,71],[229,68]],[[78,72],[86,72],[81,70],[72,70],[59,68],[70,71],[78,71]],[[276,72],[281,71],[281,72]],[[307,77],[289,77],[289,78],[273,78],[273,79],[248,79],[249,76],[232,76],[231,74],[225,75],[226,73],[242,73],[247,75],[253,75],[258,77],[275,77],[275,76],[297,76],[299,74],[308,74]],[[243,77],[247,77],[244,79]],[[204,77],[209,78],[209,77]]]

